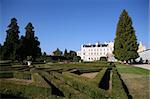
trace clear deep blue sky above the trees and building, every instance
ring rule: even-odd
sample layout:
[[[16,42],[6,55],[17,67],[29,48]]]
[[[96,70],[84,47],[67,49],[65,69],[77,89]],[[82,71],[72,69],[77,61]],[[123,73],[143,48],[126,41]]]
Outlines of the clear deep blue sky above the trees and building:
[[[20,26],[32,22],[42,51],[79,50],[81,44],[113,41],[123,9],[132,18],[138,42],[150,48],[149,0],[0,0],[0,43],[10,19]]]

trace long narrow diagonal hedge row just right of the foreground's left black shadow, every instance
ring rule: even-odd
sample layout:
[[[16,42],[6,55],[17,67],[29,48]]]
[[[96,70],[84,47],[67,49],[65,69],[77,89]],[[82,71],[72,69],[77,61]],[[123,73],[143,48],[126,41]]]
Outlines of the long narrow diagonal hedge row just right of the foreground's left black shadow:
[[[91,99],[89,96],[75,90],[68,84],[63,81],[56,79],[54,76],[50,75],[47,72],[41,71],[40,74],[44,76],[51,84],[53,84],[56,88],[63,92],[64,96],[71,99]]]

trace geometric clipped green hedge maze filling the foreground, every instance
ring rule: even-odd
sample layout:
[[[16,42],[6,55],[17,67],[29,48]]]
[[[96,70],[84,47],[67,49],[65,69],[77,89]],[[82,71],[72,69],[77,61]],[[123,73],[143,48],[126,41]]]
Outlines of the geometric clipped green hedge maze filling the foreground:
[[[107,62],[6,66],[1,63],[2,98],[127,99],[116,67]],[[81,76],[96,72],[94,78]]]

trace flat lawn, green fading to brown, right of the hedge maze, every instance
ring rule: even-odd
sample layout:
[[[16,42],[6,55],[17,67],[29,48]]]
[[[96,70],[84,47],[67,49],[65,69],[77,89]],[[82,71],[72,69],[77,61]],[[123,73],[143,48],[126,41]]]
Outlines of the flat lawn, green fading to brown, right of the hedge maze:
[[[149,99],[150,71],[131,65],[116,65],[133,99]]]

